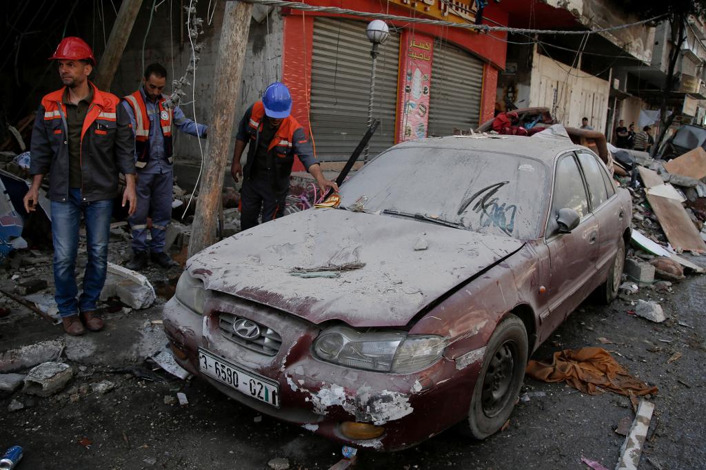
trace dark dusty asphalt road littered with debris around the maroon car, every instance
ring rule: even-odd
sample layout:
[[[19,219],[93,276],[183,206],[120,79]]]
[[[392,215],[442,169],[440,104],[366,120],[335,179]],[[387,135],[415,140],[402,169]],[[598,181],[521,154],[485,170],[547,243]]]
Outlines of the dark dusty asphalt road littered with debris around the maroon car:
[[[670,319],[654,324],[630,316],[630,299],[664,299]],[[675,284],[674,294],[640,289],[630,299],[609,307],[585,302],[534,358],[601,346],[599,337],[614,342],[604,347],[621,354],[618,362],[659,387],[640,469],[706,468],[706,276]],[[106,331],[67,343],[68,363],[78,374],[63,392],[49,399],[30,399],[22,392],[0,399],[0,447],[25,448],[19,470],[267,469],[275,457],[289,459],[292,469],[328,469],[340,459],[339,445],[273,418],[258,418],[199,380],[162,383],[105,373],[136,366],[133,361],[160,341],[160,331],[146,326],[160,318],[160,307],[106,316]],[[26,310],[0,319],[1,350],[52,337],[64,335]],[[677,352],[681,358],[668,363]],[[69,392],[103,379],[114,382],[114,390],[78,392],[78,402],[71,402]],[[628,398],[589,396],[529,378],[525,391],[531,392],[530,401],[517,404],[508,428],[484,442],[469,442],[452,429],[405,452],[361,452],[356,468],[586,469],[582,456],[614,468],[624,440],[614,429],[633,416]],[[177,392],[186,393],[189,406],[164,404],[165,395]],[[8,412],[13,398],[27,407]],[[90,448],[80,445],[83,438],[92,442]]]

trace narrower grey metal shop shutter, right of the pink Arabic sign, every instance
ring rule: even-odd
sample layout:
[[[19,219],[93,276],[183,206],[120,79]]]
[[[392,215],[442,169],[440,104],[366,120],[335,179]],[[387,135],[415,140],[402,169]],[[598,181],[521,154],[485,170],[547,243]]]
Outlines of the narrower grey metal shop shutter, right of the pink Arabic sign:
[[[429,136],[477,128],[482,88],[483,62],[437,38],[431,64]]]

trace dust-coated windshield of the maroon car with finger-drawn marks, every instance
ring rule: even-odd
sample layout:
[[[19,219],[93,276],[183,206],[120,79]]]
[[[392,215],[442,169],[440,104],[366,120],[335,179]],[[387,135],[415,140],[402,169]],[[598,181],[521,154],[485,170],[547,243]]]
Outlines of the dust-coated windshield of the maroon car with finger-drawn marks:
[[[430,147],[388,150],[341,186],[341,207],[536,239],[546,196],[537,160]]]

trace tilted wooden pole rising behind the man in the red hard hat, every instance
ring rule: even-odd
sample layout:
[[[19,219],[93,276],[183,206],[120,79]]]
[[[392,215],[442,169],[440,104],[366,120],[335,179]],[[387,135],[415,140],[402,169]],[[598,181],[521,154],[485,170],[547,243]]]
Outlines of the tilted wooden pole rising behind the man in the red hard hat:
[[[120,4],[118,16],[115,18],[113,29],[110,30],[110,37],[100,58],[100,67],[95,78],[95,85],[99,90],[110,90],[140,6],[142,6],[142,0],[123,0]]]

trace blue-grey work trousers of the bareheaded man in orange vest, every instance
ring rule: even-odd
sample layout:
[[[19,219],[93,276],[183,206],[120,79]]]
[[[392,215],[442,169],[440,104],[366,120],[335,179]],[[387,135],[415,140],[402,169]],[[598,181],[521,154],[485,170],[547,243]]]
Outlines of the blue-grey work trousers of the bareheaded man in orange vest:
[[[130,217],[133,251],[164,251],[167,225],[172,220],[172,171],[157,174],[137,172],[137,210]],[[152,214],[150,246],[147,245],[147,217]]]

